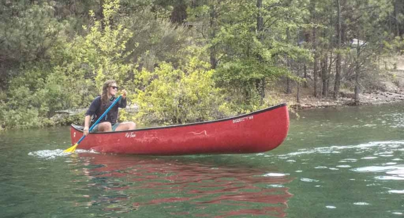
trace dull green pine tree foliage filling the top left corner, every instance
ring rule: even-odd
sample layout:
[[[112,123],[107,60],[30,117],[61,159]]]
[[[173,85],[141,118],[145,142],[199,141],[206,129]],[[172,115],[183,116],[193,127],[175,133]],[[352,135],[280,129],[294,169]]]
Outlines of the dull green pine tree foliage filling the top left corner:
[[[6,90],[23,69],[51,58],[49,49],[59,43],[57,37],[65,25],[46,2],[5,1],[0,11],[0,90]]]

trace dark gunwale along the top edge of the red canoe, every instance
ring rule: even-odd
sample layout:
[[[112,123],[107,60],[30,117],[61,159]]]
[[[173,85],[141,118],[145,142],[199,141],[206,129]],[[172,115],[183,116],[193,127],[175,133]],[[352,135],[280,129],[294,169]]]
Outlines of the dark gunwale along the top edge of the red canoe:
[[[246,113],[246,114],[242,114],[242,115],[238,115],[238,116],[234,116],[234,117],[228,117],[228,118],[223,118],[223,119],[219,119],[219,120],[212,120],[212,121],[203,121],[203,122],[198,122],[198,123],[191,123],[191,124],[179,124],[179,125],[167,125],[167,126],[156,126],[156,127],[146,127],[146,128],[139,128],[139,129],[133,129],[133,130],[121,130],[121,131],[112,131],[112,132],[92,132],[91,134],[113,134],[113,133],[122,133],[122,132],[137,132],[137,131],[145,131],[145,130],[155,130],[155,129],[166,129],[166,128],[176,128],[176,127],[184,127],[184,126],[192,126],[192,125],[205,125],[205,124],[211,124],[211,123],[217,123],[217,122],[223,122],[223,121],[228,121],[228,120],[233,120],[233,119],[237,119],[237,118],[241,118],[241,117],[245,117],[245,116],[251,116],[251,115],[255,115],[255,114],[259,114],[259,113],[263,113],[269,110],[274,110],[277,108],[281,108],[281,107],[285,107],[287,106],[287,103],[281,103],[275,106],[271,106],[269,108],[265,108],[265,109],[260,109],[260,110],[256,110],[250,113]],[[82,132],[83,130],[81,130],[79,127],[79,125],[70,125],[72,128],[74,128],[77,131]]]

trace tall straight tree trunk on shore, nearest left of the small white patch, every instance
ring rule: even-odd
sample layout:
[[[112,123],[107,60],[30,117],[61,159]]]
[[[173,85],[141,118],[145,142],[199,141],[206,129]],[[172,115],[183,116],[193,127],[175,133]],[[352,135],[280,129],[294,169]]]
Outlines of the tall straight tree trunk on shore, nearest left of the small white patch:
[[[341,80],[341,43],[342,43],[342,34],[341,34],[341,2],[337,0],[337,11],[338,11],[338,25],[337,25],[337,33],[338,33],[338,42],[337,42],[337,62],[336,62],[336,72],[335,72],[335,82],[334,82],[334,98],[337,99],[339,96],[339,86]]]

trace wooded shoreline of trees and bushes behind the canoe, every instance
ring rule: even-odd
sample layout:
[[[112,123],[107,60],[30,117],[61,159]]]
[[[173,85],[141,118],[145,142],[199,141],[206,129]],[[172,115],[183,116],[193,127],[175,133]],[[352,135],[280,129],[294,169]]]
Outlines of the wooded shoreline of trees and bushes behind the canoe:
[[[115,79],[148,125],[400,91],[402,0],[1,0],[0,129],[83,122]],[[393,61],[391,61],[393,60]],[[396,61],[394,61],[396,60]],[[393,73],[392,73],[393,72]]]

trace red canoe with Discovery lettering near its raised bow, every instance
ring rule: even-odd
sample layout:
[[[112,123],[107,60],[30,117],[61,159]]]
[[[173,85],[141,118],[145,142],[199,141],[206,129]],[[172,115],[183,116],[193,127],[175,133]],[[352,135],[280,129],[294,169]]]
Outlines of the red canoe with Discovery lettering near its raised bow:
[[[140,155],[242,154],[272,150],[289,129],[286,104],[252,113],[194,124],[90,133],[78,149]],[[71,125],[72,144],[83,135]]]

